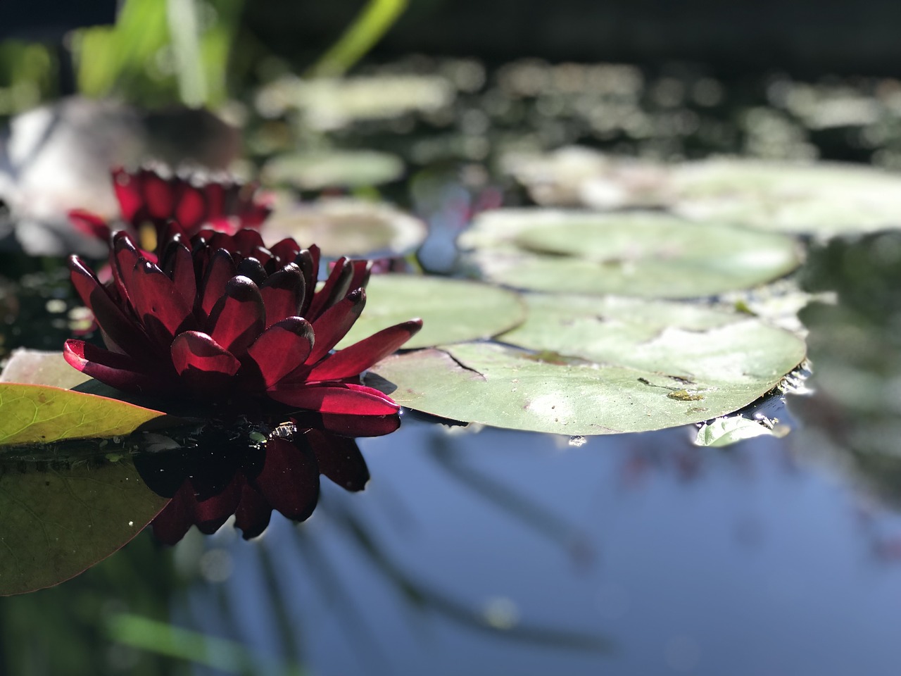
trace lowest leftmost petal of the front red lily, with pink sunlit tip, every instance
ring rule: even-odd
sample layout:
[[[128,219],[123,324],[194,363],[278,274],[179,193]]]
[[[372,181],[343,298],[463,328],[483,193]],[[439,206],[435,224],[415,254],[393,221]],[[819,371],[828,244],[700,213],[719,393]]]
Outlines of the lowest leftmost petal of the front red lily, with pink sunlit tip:
[[[150,364],[141,364],[127,354],[110,352],[84,341],[66,341],[62,356],[86,376],[123,392],[160,392],[171,384],[166,379],[168,370],[159,365],[153,365],[156,370],[149,373],[147,367]]]

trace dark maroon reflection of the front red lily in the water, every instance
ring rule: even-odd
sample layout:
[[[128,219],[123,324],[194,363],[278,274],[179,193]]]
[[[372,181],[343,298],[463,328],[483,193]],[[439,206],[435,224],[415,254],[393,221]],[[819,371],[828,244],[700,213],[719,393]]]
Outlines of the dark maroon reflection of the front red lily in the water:
[[[172,498],[152,523],[161,542],[176,544],[191,525],[213,534],[232,515],[250,539],[266,529],[273,509],[293,521],[313,514],[320,473],[350,491],[362,490],[369,480],[352,438],[292,424],[279,425],[264,441],[254,442],[262,436],[259,426],[250,434],[236,427],[209,424],[194,443],[135,456],[141,479]]]

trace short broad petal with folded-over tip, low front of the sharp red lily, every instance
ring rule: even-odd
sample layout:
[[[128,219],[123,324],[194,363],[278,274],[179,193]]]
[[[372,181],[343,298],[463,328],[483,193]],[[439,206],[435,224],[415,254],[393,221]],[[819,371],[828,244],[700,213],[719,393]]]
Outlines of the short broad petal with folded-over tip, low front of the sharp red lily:
[[[227,391],[241,362],[206,333],[186,331],[172,341],[172,365],[196,392],[210,397]]]

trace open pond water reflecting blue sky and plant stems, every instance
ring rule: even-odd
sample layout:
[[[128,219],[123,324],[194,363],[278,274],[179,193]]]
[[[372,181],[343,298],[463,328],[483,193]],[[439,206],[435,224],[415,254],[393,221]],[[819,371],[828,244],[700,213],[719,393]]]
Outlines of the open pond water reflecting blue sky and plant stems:
[[[576,140],[564,122],[541,129]],[[711,138],[734,145],[733,131]],[[644,139],[625,151],[691,153]],[[472,197],[438,185],[445,202]],[[415,206],[414,187],[389,189]],[[426,197],[431,265],[450,268],[459,205]],[[323,481],[303,524],[276,514],[250,542],[192,529],[172,548],[148,530],[58,587],[0,598],[5,671],[894,674],[899,251],[893,233],[811,245],[799,277],[838,302],[801,314],[813,393],[766,409],[787,436],[710,448],[695,425],[570,437],[405,411],[396,433],[358,441],[367,488]],[[5,254],[6,348],[65,337],[75,301],[44,263],[23,277],[40,265]]]

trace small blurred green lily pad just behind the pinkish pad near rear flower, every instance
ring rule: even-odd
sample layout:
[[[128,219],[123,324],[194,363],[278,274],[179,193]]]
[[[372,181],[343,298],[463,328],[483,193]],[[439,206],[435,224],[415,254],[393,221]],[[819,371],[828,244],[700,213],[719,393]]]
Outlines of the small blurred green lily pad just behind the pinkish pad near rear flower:
[[[378,151],[292,152],[268,160],[260,171],[268,186],[302,190],[379,186],[403,175],[403,160]]]

